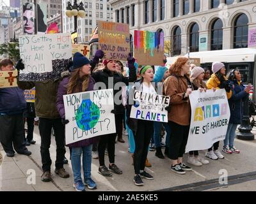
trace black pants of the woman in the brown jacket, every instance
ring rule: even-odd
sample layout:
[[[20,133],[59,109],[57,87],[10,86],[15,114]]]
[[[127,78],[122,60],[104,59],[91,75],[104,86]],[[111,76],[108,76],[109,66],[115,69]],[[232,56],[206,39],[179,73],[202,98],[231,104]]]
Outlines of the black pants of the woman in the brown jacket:
[[[179,124],[169,121],[171,131],[170,136],[170,159],[177,160],[183,157],[188,142],[189,126],[180,126]]]

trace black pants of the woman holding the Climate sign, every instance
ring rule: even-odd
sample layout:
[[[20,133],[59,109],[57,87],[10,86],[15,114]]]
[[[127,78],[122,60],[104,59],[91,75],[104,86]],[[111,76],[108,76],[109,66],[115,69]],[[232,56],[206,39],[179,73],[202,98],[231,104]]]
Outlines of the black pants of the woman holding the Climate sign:
[[[134,171],[139,174],[145,169],[148,156],[148,145],[154,134],[154,122],[148,120],[138,120],[138,129],[134,133],[135,150],[133,155]]]

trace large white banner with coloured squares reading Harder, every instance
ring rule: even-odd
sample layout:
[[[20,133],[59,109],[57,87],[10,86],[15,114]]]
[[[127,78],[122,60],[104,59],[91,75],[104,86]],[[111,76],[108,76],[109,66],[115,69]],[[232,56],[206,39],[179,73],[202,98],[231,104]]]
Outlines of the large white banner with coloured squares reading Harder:
[[[191,123],[186,152],[209,149],[213,143],[224,140],[230,118],[225,89],[193,91],[189,101]]]

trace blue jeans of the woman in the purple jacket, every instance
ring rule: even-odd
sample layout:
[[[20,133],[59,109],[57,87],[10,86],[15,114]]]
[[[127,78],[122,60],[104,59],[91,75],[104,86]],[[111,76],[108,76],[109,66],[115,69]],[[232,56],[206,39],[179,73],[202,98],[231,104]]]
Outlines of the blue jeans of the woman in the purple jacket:
[[[74,174],[74,182],[82,181],[81,177],[81,154],[83,152],[83,171],[84,180],[91,178],[91,166],[92,166],[92,145],[86,147],[72,148],[72,170]]]

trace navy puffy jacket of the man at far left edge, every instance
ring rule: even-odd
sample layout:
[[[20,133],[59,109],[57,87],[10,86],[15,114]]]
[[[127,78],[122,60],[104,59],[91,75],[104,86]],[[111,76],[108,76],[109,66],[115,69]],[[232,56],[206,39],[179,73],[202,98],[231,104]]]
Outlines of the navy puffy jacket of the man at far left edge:
[[[0,89],[0,113],[14,115],[26,109],[24,92],[19,87]]]

